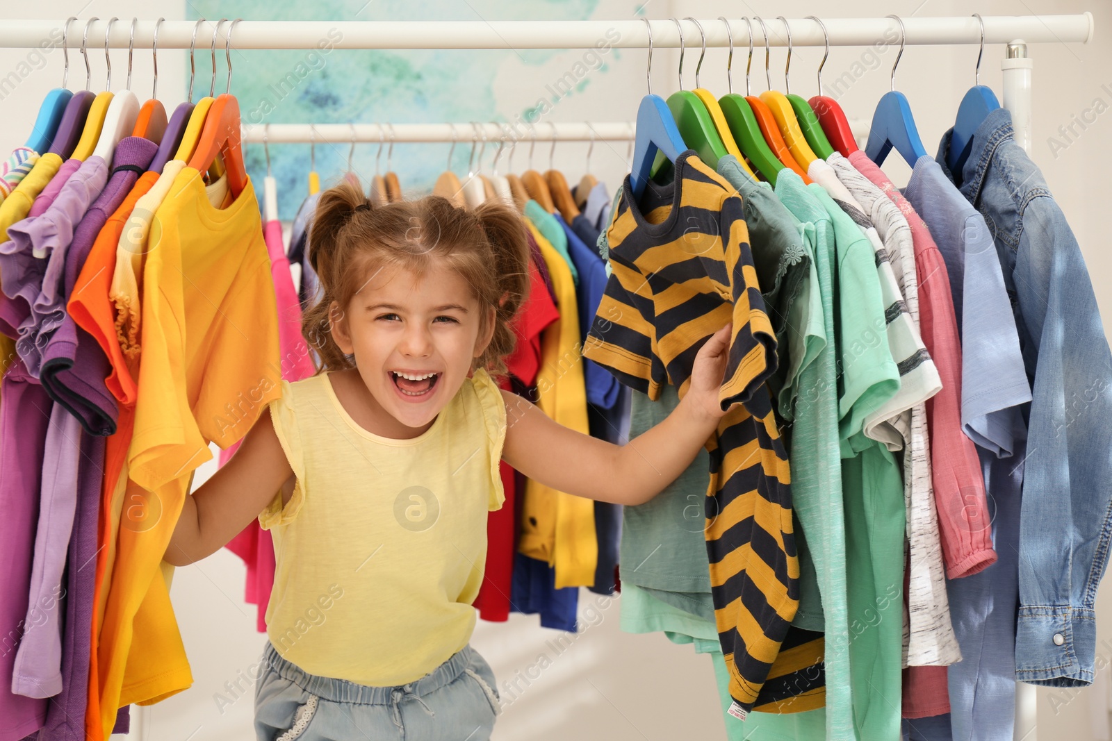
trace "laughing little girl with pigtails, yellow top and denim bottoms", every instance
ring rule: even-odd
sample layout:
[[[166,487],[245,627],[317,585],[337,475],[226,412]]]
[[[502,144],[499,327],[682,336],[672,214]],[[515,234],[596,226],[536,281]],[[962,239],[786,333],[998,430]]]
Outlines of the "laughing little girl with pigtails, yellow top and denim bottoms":
[[[282,382],[186,499],[165,557],[192,563],[254,518],[271,530],[260,740],[488,739],[498,693],[468,640],[499,460],[558,491],[639,504],[725,414],[728,326],[699,350],[675,411],[627,445],[499,390],[526,240],[497,203],[378,206],[348,182],[321,194],[309,256],[324,297],[304,323],[318,373]]]

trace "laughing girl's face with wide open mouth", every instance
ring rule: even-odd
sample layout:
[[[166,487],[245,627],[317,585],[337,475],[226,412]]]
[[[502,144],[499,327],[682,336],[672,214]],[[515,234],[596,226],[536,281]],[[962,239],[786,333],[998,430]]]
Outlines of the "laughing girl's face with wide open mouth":
[[[374,271],[341,316],[332,307],[332,338],[379,405],[411,428],[430,423],[470,373],[494,334],[488,309],[440,261],[424,276],[405,268]]]

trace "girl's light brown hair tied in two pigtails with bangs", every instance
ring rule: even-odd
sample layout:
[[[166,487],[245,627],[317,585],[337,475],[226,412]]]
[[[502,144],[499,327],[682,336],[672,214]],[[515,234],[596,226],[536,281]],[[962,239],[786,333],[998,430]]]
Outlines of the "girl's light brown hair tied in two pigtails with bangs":
[[[320,194],[309,228],[309,262],[322,296],[306,310],[301,330],[317,351],[317,372],[354,368],[331,333],[330,307],[346,311],[367,276],[401,267],[421,274],[433,260],[446,260],[479,302],[480,337],[495,309],[494,334],[473,370],[506,372],[504,358],[514,351],[512,322],[529,288],[528,236],[522,218],[499,201],[474,211],[445,198],[378,204],[347,179]]]

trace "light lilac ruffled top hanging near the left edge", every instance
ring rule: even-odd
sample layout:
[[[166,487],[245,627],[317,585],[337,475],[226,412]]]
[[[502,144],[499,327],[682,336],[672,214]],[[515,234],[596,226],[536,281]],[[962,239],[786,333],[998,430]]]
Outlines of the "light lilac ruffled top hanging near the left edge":
[[[108,181],[108,163],[93,154],[81,163],[42,214],[8,228],[9,241],[0,244],[0,289],[13,303],[26,306],[19,323],[16,351],[32,377],[38,378],[42,350],[66,316],[62,273],[66,250],[92,201]]]

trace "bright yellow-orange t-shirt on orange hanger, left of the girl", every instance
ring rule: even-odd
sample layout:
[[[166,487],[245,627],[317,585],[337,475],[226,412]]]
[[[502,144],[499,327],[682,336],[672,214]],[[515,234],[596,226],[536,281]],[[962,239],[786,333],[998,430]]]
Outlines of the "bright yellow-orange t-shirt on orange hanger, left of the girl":
[[[199,172],[186,168],[175,179],[150,228],[140,336],[128,495],[147,494],[142,507],[129,499],[117,535],[98,647],[103,738],[122,704],[189,687],[169,601],[139,605],[162,578],[192,472],[211,458],[208,443],[231,445],[280,393],[270,258],[250,180],[221,210]],[[141,517],[130,519],[132,511]],[[139,634],[149,642],[132,651]]]

